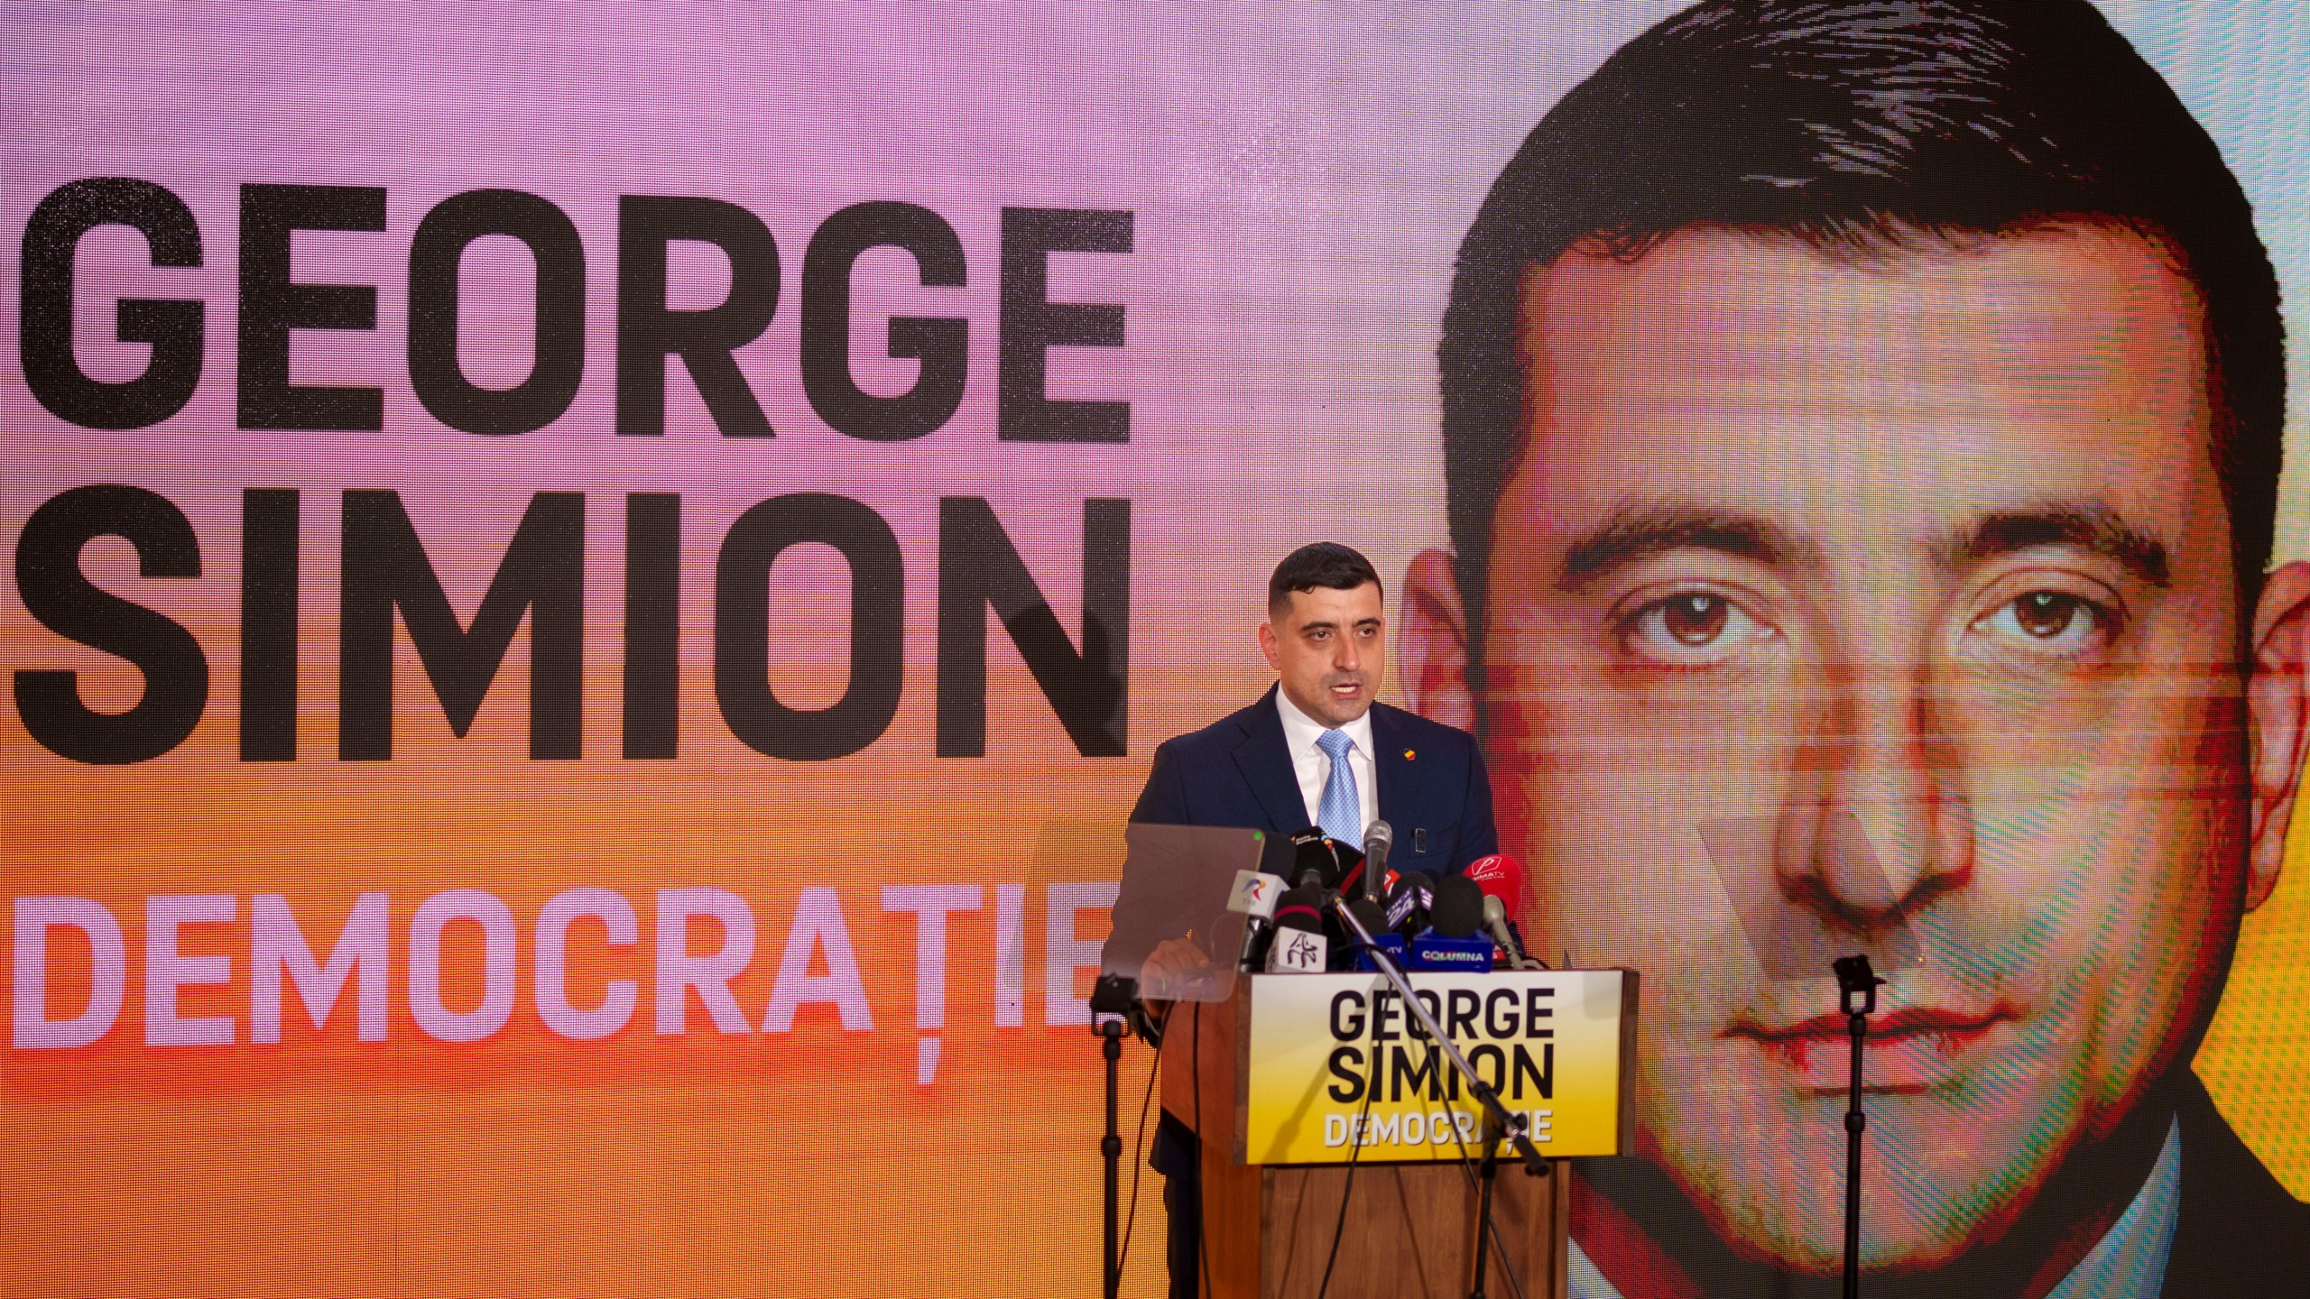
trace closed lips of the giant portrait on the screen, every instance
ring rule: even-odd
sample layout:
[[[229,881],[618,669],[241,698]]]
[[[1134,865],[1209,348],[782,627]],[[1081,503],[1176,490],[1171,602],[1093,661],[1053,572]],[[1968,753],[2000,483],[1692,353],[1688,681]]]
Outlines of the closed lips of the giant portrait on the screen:
[[[1906,1005],[1869,1017],[1862,1054],[1862,1091],[1929,1091],[1957,1077],[1968,1059],[2019,1010],[1996,1003],[1987,1010]],[[1799,1091],[1843,1093],[1853,1070],[1853,1038],[1843,1015],[1816,1015],[1786,1026],[1739,1022],[1723,1038],[1753,1042],[1767,1061],[1795,1075]]]

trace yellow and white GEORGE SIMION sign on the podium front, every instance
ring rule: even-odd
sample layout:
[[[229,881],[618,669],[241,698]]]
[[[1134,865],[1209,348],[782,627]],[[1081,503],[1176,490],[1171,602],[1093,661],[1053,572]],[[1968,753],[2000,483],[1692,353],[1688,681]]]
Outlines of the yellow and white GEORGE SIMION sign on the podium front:
[[[1411,989],[1552,1158],[1626,1151],[1633,971],[1416,973]],[[1481,1107],[1377,973],[1254,978],[1245,1163],[1455,1160]],[[1361,1153],[1358,1153],[1361,1151]]]

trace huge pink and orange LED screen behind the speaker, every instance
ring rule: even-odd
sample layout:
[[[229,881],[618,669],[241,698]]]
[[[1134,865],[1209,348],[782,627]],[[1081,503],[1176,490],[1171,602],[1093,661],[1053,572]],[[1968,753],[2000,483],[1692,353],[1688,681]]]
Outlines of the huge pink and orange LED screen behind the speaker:
[[[0,1290],[1090,1292],[1120,825],[1317,539],[1645,975],[1575,1294],[1834,1283],[1848,948],[1876,1292],[2301,1285],[2303,5],[0,67]]]

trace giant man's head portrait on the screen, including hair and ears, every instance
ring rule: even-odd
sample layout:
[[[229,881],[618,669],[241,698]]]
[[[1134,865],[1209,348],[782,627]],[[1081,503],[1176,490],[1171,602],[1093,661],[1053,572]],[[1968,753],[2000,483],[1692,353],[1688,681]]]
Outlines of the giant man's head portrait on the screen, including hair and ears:
[[[1407,682],[1485,737],[1536,945],[1647,978],[1608,1283],[1834,1274],[1841,950],[1892,971],[1887,1281],[2188,1292],[2213,1204],[2292,1207],[2188,1072],[2298,779],[2278,287],[2100,14],[1661,23],[1495,183],[1441,381]]]

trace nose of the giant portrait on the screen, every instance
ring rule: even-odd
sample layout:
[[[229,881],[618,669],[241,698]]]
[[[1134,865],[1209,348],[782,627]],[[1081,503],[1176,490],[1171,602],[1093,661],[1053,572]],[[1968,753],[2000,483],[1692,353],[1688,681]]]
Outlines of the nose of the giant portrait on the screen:
[[[1973,811],[1922,659],[1830,666],[1818,733],[1781,811],[1781,892],[1825,922],[1878,931],[1961,888]]]

